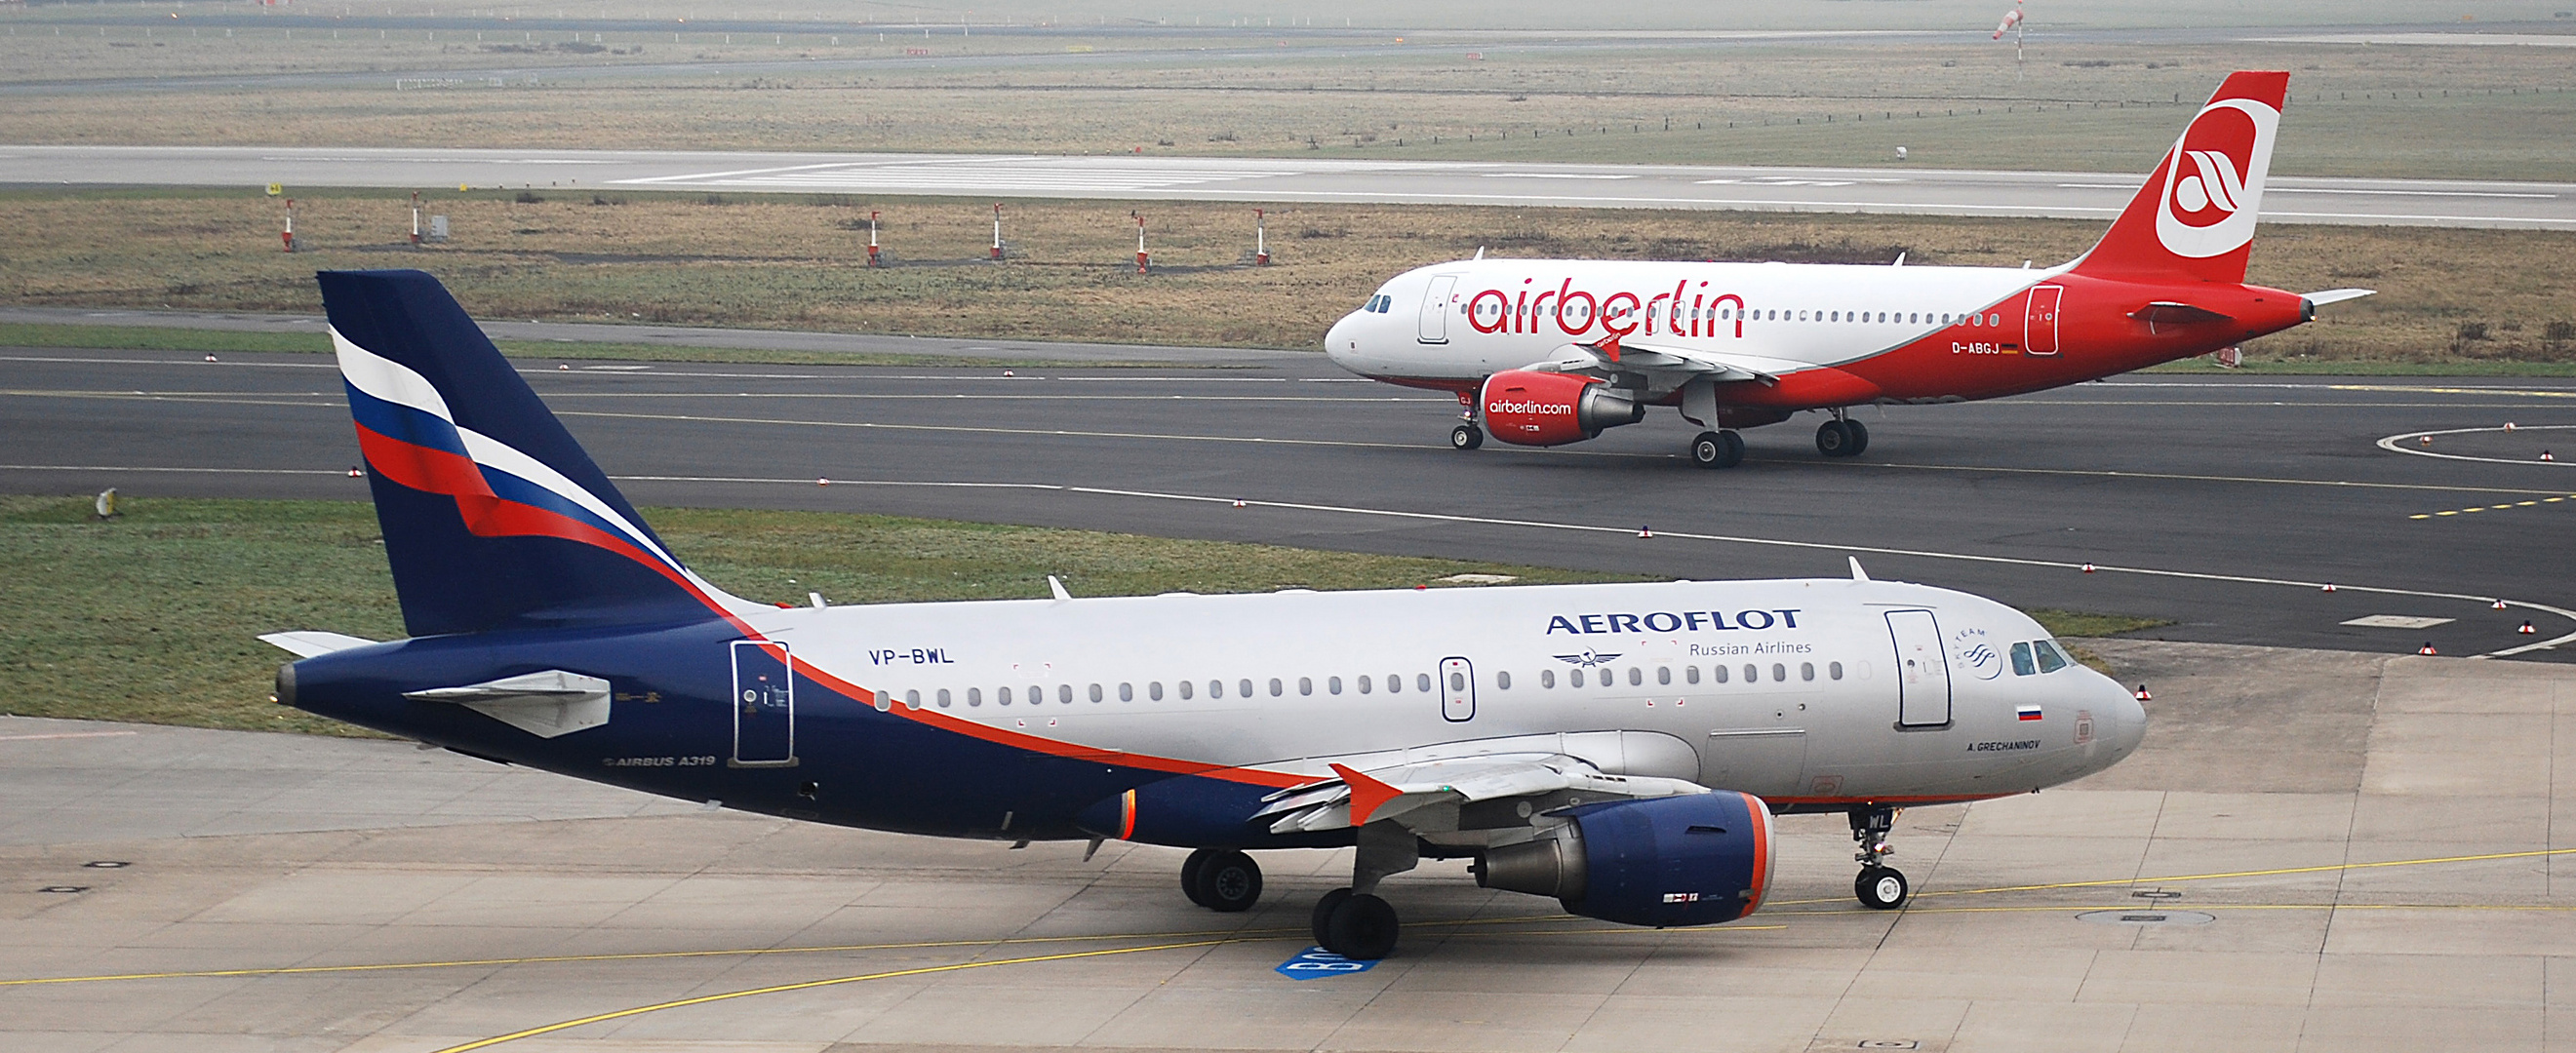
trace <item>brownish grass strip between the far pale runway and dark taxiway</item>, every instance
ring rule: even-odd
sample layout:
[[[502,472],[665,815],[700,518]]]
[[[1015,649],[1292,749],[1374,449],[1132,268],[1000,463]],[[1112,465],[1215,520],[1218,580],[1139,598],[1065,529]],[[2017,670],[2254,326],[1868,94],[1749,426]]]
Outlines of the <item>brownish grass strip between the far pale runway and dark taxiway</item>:
[[[433,193],[430,211],[448,214],[456,237],[410,250],[399,242],[407,198],[314,193],[296,201],[296,232],[312,252],[289,255],[276,242],[281,206],[255,191],[5,191],[0,304],[317,314],[317,268],[417,265],[484,319],[1316,348],[1383,278],[1479,247],[1814,263],[1906,252],[1911,263],[2020,265],[2074,257],[2102,232],[2050,219],[1273,206],[1275,265],[1249,268],[1249,206],[1151,203],[1157,273],[1136,275],[1133,203],[1012,203],[1012,257],[994,265],[981,263],[992,211],[969,201],[528,196],[541,201]],[[853,265],[871,209],[886,214],[894,265],[881,270]],[[85,234],[59,237],[75,229]],[[2251,368],[2576,371],[2576,234],[2272,224],[2254,239],[2251,281],[2380,288],[2251,342]],[[513,350],[572,358],[556,348],[567,345]]]

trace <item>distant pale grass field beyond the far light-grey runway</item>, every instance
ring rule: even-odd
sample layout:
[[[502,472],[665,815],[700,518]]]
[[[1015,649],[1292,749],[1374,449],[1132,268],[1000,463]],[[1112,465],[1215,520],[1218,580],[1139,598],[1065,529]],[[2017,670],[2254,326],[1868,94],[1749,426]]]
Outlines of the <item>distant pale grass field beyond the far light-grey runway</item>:
[[[1399,44],[1131,26],[835,44],[835,33],[791,26],[757,41],[732,33],[732,44],[626,31],[621,44],[611,28],[590,33],[605,44],[585,46],[644,54],[546,57],[495,51],[523,44],[464,41],[474,31],[459,28],[384,41],[335,41],[319,28],[173,39],[178,26],[113,15],[126,21],[44,36],[59,21],[100,18],[90,10],[33,8],[28,33],[0,36],[0,82],[28,85],[0,111],[0,142],[639,147],[636,129],[652,129],[649,144],[665,149],[1721,165],[1896,165],[1904,144],[1914,167],[2143,172],[2228,70],[2293,72],[2275,157],[2282,175],[2563,180],[2563,147],[2576,142],[2576,72],[2558,46],[2285,44],[2267,33],[2099,44],[2043,31],[2017,67],[2012,46],[1984,33],[1891,44],[1448,31]],[[528,33],[492,26],[487,36]],[[325,70],[381,77],[268,80]],[[466,82],[397,90],[407,72]],[[263,80],[85,88],[185,75]]]

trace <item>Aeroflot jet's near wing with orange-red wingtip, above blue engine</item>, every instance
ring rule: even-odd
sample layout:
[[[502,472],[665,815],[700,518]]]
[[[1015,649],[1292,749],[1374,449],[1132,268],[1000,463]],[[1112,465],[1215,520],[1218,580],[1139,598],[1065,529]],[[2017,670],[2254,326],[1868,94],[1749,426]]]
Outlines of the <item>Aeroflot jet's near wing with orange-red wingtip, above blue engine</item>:
[[[1458,806],[1481,801],[1530,801],[1558,808],[1607,798],[1669,798],[1708,793],[1705,785],[1654,778],[1607,775],[1566,754],[1484,754],[1360,772],[1332,765],[1334,778],[1273,793],[1252,819],[1270,819],[1273,834],[1365,826],[1396,821],[1406,829],[1458,829]]]

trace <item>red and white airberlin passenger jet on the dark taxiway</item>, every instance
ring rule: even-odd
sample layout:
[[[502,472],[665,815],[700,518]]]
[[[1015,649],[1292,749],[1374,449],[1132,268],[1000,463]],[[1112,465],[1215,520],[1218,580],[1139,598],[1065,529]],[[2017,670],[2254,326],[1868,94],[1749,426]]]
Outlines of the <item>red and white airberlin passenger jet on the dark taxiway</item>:
[[[2205,355],[2367,288],[2246,286],[2287,72],[2236,72],[2102,242],[2074,263],[1906,268],[1473,260],[1406,270],[1334,322],[1334,363],[1455,391],[1450,445],[1582,443],[1677,407],[1692,463],[1744,458],[1739,427],[1803,409],[1855,456],[1862,404],[1968,402]]]

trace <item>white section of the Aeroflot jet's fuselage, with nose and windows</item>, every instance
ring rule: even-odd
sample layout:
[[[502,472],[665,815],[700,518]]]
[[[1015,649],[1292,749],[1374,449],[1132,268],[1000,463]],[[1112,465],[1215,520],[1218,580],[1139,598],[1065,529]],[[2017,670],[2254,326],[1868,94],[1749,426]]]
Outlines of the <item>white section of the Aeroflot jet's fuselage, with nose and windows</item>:
[[[2014,644],[2048,641],[2027,615],[1904,582],[999,600],[747,620],[881,708],[935,723],[1319,778],[1327,759],[1613,734],[1584,741],[1618,757],[1587,759],[1775,806],[1958,801],[2107,767],[2146,729],[2143,708],[2092,669],[2014,672]]]

